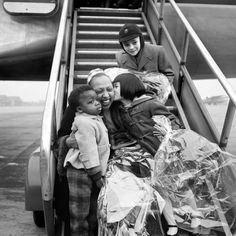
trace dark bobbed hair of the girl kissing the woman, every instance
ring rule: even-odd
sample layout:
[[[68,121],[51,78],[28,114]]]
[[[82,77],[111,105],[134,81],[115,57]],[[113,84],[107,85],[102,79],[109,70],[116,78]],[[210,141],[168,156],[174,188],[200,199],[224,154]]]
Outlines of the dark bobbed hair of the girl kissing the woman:
[[[123,73],[118,75],[113,84],[120,83],[120,95],[125,99],[133,100],[146,93],[143,82],[132,73]]]

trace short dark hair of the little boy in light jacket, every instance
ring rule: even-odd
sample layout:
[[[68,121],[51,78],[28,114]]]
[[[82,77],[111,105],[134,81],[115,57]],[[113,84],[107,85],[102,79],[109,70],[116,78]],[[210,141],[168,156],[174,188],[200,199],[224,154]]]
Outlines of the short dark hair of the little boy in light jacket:
[[[80,105],[81,102],[81,95],[90,90],[93,90],[90,85],[82,85],[78,88],[73,89],[68,98],[70,108],[76,111],[76,108]]]

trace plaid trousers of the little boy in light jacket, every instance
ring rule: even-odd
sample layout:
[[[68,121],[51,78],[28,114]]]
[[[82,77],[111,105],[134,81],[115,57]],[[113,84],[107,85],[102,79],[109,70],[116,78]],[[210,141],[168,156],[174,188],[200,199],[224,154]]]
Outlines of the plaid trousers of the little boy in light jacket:
[[[88,236],[92,180],[85,170],[77,170],[72,166],[67,169],[67,179],[69,184],[71,236]]]

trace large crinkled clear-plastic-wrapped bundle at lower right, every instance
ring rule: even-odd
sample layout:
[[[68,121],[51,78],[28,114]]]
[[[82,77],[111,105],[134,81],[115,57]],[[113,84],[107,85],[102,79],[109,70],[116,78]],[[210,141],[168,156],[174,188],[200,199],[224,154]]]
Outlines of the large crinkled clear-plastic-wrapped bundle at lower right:
[[[179,228],[200,234],[234,231],[236,157],[194,131],[171,131],[163,119],[159,127],[164,124],[166,136],[155,155],[152,184],[168,194]]]

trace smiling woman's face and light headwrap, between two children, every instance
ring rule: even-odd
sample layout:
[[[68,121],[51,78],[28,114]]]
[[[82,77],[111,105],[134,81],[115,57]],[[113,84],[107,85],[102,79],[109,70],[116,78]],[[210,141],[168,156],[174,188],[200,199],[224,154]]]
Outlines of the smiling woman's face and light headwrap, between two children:
[[[106,75],[97,75],[92,78],[90,85],[98,95],[103,109],[109,109],[114,100],[114,90],[111,80]]]

